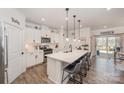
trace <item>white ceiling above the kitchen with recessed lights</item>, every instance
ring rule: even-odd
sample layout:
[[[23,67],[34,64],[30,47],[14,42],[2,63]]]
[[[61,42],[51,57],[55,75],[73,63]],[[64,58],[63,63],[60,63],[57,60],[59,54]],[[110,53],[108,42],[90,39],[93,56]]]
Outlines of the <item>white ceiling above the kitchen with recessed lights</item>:
[[[46,24],[53,28],[65,28],[66,11],[64,8],[21,8],[21,11],[29,21],[43,23],[41,18],[45,18]],[[107,27],[124,26],[124,8],[112,8],[107,11],[106,8],[70,8],[69,10],[69,28],[73,28],[73,15],[76,19],[81,19],[82,27],[91,29]]]

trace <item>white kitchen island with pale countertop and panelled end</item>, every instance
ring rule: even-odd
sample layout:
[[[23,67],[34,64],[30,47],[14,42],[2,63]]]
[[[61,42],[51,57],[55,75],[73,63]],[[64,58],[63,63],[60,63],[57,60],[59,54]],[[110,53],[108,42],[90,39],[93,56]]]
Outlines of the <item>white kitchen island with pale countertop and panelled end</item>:
[[[60,84],[62,79],[63,67],[71,64],[84,56],[88,51],[73,50],[72,52],[64,53],[58,52],[47,55],[47,75],[54,83]],[[67,83],[65,80],[64,83]]]

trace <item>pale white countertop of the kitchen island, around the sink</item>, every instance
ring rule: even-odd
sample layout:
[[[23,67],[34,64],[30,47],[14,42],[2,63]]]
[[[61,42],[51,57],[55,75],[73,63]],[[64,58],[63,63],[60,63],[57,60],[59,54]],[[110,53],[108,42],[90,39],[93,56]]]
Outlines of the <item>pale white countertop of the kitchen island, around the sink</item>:
[[[88,51],[85,50],[73,50],[72,52],[69,53],[64,53],[64,52],[57,52],[53,54],[48,54],[46,55],[48,58],[53,58],[65,63],[72,63],[76,61],[78,58],[86,54]]]

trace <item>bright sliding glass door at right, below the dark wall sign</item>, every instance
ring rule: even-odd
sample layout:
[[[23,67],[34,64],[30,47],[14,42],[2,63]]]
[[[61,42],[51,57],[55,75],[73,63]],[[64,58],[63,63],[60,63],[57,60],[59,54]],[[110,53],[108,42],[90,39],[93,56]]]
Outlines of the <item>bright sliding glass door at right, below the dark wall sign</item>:
[[[119,36],[99,36],[96,38],[97,55],[113,56],[117,47],[120,47]]]

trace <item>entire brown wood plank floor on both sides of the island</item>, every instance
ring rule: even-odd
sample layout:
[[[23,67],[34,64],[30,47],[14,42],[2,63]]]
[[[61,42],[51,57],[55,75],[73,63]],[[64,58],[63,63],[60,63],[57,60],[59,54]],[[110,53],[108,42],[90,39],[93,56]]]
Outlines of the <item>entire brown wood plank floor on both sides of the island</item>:
[[[103,57],[93,58],[88,74],[83,78],[84,84],[124,84],[124,72],[116,69],[113,59]],[[53,84],[47,78],[46,63],[27,69],[14,84]],[[72,82],[68,82],[71,84]]]

